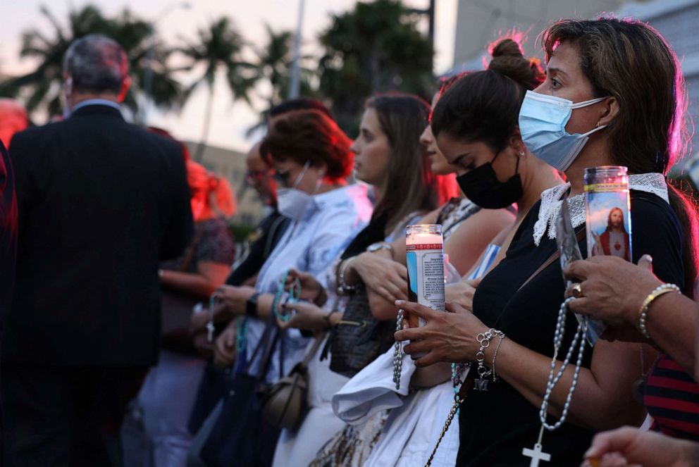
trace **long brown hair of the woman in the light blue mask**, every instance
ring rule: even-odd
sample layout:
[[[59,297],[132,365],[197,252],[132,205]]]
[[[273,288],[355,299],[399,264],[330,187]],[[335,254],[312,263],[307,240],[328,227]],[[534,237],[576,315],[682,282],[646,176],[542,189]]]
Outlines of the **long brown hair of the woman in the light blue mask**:
[[[576,47],[595,96],[613,96],[619,113],[607,127],[614,163],[629,173],[662,173],[687,149],[686,89],[679,61],[652,27],[637,20],[602,17],[560,20],[543,33],[547,61],[562,42]],[[670,204],[683,230],[683,292],[699,267],[697,206],[668,183]]]

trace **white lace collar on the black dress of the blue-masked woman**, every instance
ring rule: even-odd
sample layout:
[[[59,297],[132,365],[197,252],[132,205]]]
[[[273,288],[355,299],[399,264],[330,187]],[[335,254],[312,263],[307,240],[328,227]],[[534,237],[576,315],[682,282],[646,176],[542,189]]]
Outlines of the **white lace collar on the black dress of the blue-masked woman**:
[[[550,239],[556,238],[556,223],[555,218],[563,204],[563,195],[570,188],[570,183],[564,183],[553,188],[545,190],[541,194],[541,206],[539,208],[539,218],[534,224],[534,244],[538,247],[541,238],[547,231]],[[669,204],[667,197],[667,184],[662,173],[641,173],[638,175],[629,175],[629,188],[638,192],[652,193],[664,199]],[[576,194],[574,197],[568,198],[568,211],[570,220],[574,228],[585,223],[585,196]]]

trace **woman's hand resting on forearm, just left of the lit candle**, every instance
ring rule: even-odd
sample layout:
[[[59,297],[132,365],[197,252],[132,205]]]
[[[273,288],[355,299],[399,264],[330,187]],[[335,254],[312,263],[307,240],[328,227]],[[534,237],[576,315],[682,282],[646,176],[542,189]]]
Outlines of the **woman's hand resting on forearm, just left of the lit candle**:
[[[408,299],[408,270],[401,263],[365,252],[352,259],[347,267],[354,268],[367,287],[391,303]]]

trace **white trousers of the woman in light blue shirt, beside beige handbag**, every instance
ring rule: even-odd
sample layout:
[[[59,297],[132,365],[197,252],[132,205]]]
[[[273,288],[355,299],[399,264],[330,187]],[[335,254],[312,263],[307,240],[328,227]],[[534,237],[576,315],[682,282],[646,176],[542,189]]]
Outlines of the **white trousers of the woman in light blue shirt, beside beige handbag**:
[[[309,412],[297,431],[282,430],[273,467],[307,467],[330,438],[345,428],[330,406],[330,399],[350,379],[330,371],[330,357],[321,361],[323,344],[308,365]]]

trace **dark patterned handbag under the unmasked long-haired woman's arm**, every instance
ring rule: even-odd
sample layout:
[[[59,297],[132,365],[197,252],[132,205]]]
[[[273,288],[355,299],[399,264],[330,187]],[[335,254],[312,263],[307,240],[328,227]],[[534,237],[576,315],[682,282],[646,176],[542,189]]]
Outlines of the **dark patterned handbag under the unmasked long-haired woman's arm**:
[[[330,370],[352,378],[391,347],[394,333],[395,322],[374,318],[366,289],[357,287],[330,335]]]

